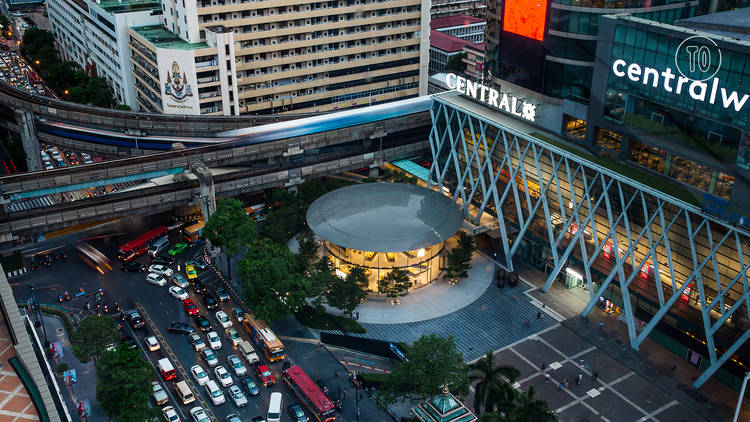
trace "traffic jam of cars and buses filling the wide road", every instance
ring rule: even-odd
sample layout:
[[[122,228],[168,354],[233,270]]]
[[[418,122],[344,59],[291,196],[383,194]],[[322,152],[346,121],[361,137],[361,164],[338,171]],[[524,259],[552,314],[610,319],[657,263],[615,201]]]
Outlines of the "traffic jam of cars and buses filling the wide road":
[[[333,421],[341,402],[326,376],[292,363],[284,341],[219,278],[202,228],[202,221],[157,226],[116,247],[125,235],[85,239],[80,259],[55,258],[67,249],[60,248],[41,267],[93,270],[91,281],[56,300],[74,319],[117,321],[120,342],[154,368],[152,404],[165,420]]]

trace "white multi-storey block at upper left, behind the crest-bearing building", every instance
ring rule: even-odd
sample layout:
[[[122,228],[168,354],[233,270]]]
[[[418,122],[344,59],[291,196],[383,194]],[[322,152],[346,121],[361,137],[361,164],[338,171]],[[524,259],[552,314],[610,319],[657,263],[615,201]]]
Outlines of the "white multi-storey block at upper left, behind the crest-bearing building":
[[[63,60],[105,78],[114,98],[137,107],[127,28],[162,21],[159,0],[48,0],[50,27]]]

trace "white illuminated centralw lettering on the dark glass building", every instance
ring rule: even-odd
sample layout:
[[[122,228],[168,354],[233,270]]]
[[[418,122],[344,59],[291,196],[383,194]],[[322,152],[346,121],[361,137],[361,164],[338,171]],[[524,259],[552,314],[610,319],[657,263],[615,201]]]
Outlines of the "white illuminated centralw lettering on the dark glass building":
[[[661,87],[663,90],[675,95],[690,95],[690,98],[696,101],[708,102],[715,104],[719,100],[724,108],[734,108],[735,111],[742,110],[750,94],[742,94],[737,91],[729,91],[720,86],[719,78],[714,77],[709,82],[693,80],[684,76],[678,76],[672,72],[672,69],[666,68],[659,70],[641,66],[638,63],[626,62],[623,59],[617,59],[612,62],[612,73],[618,78],[627,77],[633,82],[640,82],[643,85],[651,85],[654,88]]]

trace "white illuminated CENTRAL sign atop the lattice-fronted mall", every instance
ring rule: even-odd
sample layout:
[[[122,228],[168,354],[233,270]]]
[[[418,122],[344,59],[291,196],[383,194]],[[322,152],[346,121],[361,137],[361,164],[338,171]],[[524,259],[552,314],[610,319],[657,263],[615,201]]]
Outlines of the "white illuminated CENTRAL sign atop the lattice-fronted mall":
[[[484,86],[479,82],[472,82],[462,76],[453,73],[445,75],[445,84],[448,88],[468,95],[475,100],[481,101],[498,110],[518,116],[533,122],[536,120],[537,105],[531,104],[523,98],[512,94],[501,93],[495,89]]]

